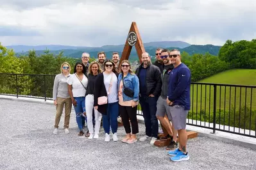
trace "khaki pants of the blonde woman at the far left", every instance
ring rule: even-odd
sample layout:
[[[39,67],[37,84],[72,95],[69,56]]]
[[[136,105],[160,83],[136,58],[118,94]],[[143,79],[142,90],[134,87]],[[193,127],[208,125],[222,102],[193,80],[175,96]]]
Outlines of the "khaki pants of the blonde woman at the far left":
[[[71,101],[71,98],[60,98],[60,97],[57,98],[55,128],[58,128],[58,123],[60,123],[60,117],[62,116],[64,104],[65,104],[64,128],[69,128],[72,101]]]

